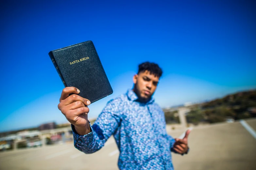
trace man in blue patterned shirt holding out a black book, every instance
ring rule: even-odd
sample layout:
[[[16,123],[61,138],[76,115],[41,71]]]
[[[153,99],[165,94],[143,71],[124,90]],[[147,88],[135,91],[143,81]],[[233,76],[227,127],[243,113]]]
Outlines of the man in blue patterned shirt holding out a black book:
[[[76,95],[77,88],[64,88],[58,108],[72,124],[75,147],[93,153],[114,135],[120,169],[173,169],[171,151],[187,153],[190,132],[183,139],[167,135],[164,113],[152,98],[161,76],[157,64],[140,64],[133,89],[110,100],[93,126],[87,118],[90,101]]]

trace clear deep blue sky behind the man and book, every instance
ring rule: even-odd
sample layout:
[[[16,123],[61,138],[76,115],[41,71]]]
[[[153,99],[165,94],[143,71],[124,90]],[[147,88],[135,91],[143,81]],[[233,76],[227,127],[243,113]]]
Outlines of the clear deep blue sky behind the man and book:
[[[64,86],[48,52],[92,40],[113,94],[132,88],[138,64],[163,76],[162,107],[256,88],[255,1],[1,2],[0,131],[67,120],[58,110]]]

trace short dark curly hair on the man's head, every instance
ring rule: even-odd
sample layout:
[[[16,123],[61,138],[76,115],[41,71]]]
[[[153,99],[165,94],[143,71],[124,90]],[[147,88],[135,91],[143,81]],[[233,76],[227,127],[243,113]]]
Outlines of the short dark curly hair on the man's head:
[[[159,78],[162,76],[163,73],[162,69],[158,66],[158,64],[145,62],[139,65],[138,74],[140,72],[145,72],[146,70],[149,71],[150,74],[153,74]]]

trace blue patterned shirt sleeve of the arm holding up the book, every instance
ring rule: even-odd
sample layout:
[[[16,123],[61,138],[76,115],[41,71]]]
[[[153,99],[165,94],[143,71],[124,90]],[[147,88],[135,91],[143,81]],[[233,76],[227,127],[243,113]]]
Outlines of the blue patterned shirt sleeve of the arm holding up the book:
[[[71,125],[74,137],[74,146],[84,153],[94,153],[101,149],[108,138],[114,134],[120,125],[118,103],[111,100],[104,107],[93,125],[90,123],[91,132],[78,135],[74,125]]]

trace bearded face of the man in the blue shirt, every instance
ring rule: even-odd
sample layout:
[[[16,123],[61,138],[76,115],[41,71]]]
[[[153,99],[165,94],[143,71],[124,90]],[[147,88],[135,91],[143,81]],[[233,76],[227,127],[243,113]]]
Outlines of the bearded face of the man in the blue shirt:
[[[142,102],[146,102],[155,92],[159,77],[150,74],[149,71],[140,72],[133,76],[133,91]]]

